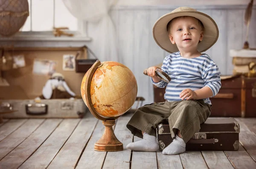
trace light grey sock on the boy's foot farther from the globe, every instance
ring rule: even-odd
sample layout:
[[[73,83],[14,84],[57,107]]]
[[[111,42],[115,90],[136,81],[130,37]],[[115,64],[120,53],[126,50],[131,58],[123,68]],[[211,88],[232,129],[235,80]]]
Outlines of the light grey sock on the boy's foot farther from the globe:
[[[178,135],[175,136],[172,143],[163,149],[163,155],[177,155],[186,151],[186,143]]]

